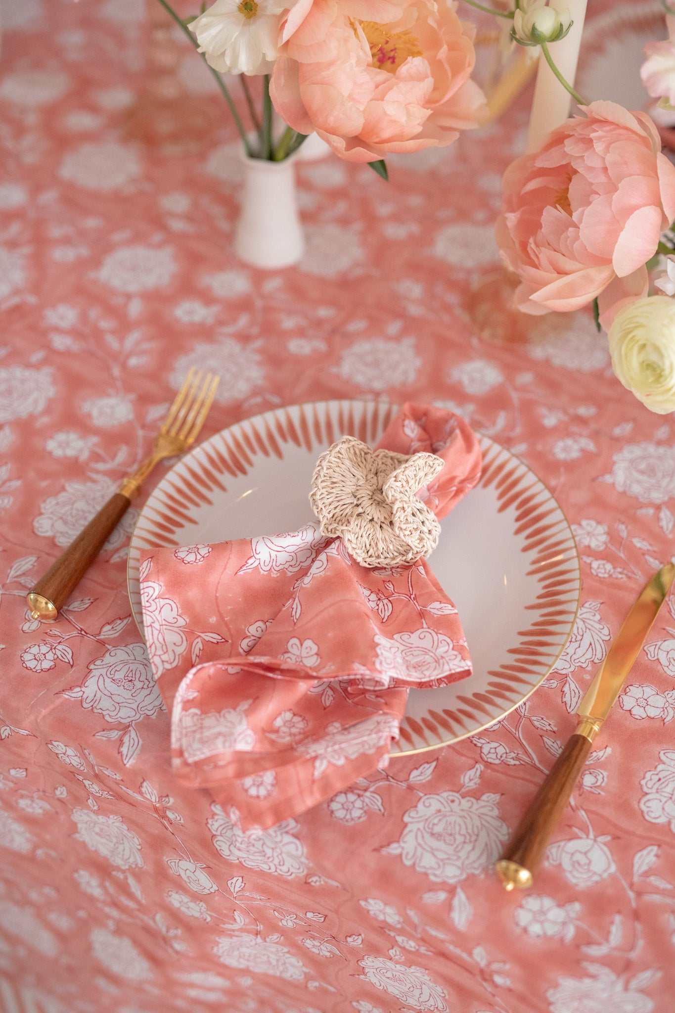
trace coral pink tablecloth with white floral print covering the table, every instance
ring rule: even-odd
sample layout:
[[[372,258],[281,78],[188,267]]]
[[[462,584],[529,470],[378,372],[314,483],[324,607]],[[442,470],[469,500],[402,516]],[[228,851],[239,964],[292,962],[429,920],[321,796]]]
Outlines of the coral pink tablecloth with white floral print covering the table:
[[[141,6],[2,5],[0,1005],[667,1013],[675,606],[534,888],[507,895],[492,871],[675,523],[672,419],[613,379],[592,321],[503,346],[463,312],[496,262],[526,103],[448,150],[392,158],[389,185],[332,157],[301,166],[306,259],[256,274],[231,252],[232,133],[171,158],[117,130],[141,81]],[[598,0],[592,23],[635,6]],[[257,834],[175,781],[125,591],[135,514],[58,625],[23,596],[147,452],[190,365],[222,375],[207,432],[318,397],[411,398],[531,465],[574,525],[584,583],[572,640],[526,705]]]

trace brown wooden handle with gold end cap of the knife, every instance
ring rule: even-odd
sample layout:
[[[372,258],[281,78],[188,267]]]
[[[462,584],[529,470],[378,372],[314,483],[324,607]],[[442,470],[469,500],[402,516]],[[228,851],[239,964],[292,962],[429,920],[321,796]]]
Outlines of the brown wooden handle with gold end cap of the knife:
[[[532,876],[586,763],[591,741],[575,732],[530,802],[513,837],[496,863],[506,889],[531,886]]]

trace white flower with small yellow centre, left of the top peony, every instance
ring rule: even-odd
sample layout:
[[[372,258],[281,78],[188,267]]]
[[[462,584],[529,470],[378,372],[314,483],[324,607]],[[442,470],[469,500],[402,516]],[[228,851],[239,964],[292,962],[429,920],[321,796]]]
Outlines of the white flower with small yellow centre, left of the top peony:
[[[216,0],[189,25],[199,52],[225,74],[269,74],[277,56],[284,0]]]

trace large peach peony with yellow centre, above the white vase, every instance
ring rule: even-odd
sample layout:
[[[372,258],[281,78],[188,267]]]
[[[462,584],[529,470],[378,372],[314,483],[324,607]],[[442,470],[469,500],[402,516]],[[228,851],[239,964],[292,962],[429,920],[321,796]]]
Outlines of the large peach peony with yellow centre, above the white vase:
[[[272,101],[352,162],[451,144],[485,114],[470,79],[473,37],[446,0],[298,0],[281,26]]]

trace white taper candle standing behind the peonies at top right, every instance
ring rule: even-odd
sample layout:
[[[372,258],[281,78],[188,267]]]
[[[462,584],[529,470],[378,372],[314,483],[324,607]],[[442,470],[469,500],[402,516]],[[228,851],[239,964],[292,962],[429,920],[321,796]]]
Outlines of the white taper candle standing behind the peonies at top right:
[[[552,60],[572,87],[574,87],[577,73],[586,2],[587,0],[569,0],[567,6],[574,23],[565,38],[549,46]],[[528,151],[537,151],[546,135],[565,123],[570,115],[571,102],[572,95],[560,83],[541,54],[536,72],[532,111],[529,118]]]

